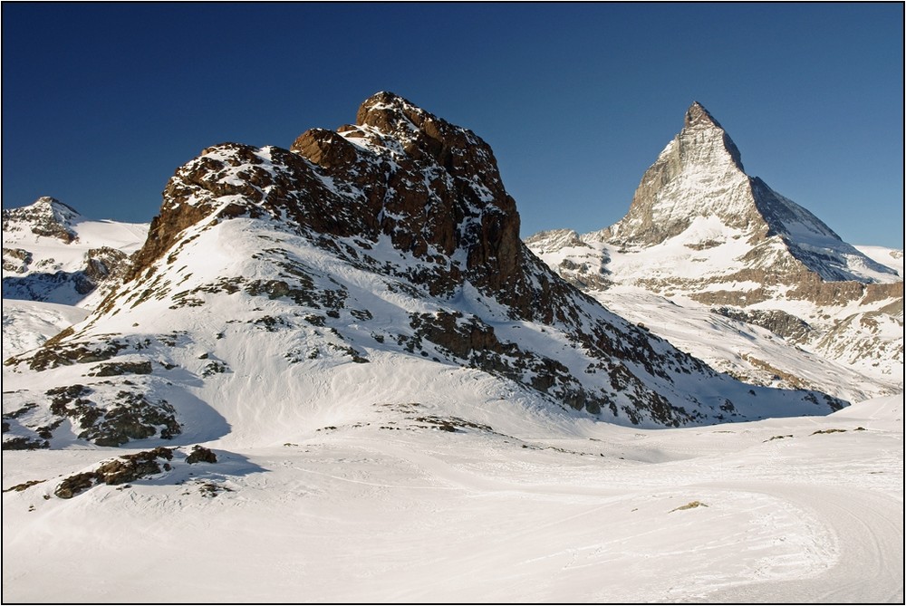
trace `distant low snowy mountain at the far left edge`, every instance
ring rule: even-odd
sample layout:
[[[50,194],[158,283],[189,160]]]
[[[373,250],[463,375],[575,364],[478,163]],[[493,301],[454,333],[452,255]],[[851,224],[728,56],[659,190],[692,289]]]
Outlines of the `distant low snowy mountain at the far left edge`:
[[[147,233],[147,224],[86,219],[53,197],[5,208],[3,298],[92,309]]]

